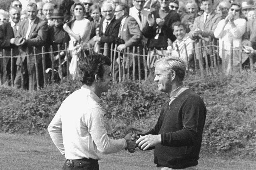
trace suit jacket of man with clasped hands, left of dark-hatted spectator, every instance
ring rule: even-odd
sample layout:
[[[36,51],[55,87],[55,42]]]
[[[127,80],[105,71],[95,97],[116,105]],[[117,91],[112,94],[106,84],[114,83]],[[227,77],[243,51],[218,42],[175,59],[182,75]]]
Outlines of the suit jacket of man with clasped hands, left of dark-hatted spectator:
[[[20,38],[20,37],[26,37],[27,31],[28,31],[28,25],[29,25],[29,20],[26,19],[24,21],[19,22],[19,31],[16,34],[16,38]],[[26,58],[26,48],[29,48],[29,54],[33,55],[33,47],[36,48],[35,52],[36,53],[41,53],[42,52],[42,46],[45,45],[46,43],[46,38],[47,38],[47,22],[45,20],[41,20],[40,18],[36,17],[33,25],[31,26],[31,30],[29,33],[29,37],[27,39],[27,43],[24,44],[23,46],[21,46],[21,58],[22,61],[25,60]],[[39,61],[41,59],[41,55],[38,55],[38,60]],[[34,57],[30,57],[30,63],[34,64]],[[21,59],[18,58],[17,65],[21,64]]]

